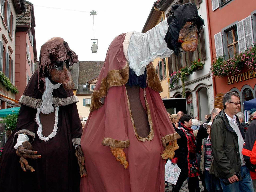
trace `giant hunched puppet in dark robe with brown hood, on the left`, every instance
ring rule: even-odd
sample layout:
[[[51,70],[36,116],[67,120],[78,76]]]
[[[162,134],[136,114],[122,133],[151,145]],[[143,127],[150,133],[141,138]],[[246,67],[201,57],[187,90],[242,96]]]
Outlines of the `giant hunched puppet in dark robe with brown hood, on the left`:
[[[86,172],[78,98],[69,72],[77,61],[62,38],[41,47],[39,68],[19,100],[17,127],[4,147],[1,192],[79,191]]]

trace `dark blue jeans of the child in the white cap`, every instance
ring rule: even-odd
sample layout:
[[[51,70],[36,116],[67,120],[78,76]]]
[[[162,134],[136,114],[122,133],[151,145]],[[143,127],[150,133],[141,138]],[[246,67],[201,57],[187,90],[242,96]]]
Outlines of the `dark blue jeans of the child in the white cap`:
[[[215,192],[215,191],[222,192],[219,178],[215,177],[214,175],[211,175],[207,170],[204,171],[204,176],[205,176],[206,189],[209,192]]]

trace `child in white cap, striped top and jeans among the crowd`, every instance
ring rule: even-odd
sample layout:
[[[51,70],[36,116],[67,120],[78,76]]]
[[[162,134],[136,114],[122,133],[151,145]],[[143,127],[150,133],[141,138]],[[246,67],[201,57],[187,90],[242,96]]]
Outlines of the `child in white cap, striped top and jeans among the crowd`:
[[[210,169],[212,169],[211,165],[213,160],[211,149],[211,125],[212,122],[203,124],[203,127],[207,130],[209,136],[202,142],[202,160],[200,162],[200,169],[205,177],[206,189],[209,192],[222,192],[220,179],[209,173]]]

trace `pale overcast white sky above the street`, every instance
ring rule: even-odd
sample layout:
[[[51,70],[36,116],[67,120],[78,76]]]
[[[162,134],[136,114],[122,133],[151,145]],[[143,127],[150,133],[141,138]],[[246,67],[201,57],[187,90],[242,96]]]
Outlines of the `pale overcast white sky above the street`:
[[[112,40],[129,31],[141,32],[156,0],[29,0],[34,4],[37,55],[52,37],[62,37],[79,61],[104,61]],[[56,9],[58,8],[58,9]],[[75,10],[75,11],[73,11]],[[98,51],[92,53],[94,10]]]

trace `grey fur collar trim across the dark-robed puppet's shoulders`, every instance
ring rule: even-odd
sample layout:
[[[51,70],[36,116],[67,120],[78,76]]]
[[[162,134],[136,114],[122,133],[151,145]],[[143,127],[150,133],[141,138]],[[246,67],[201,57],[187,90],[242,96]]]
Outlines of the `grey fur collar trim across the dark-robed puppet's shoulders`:
[[[54,97],[52,100],[52,103],[54,104],[55,107],[57,107],[57,106],[70,105],[73,103],[77,103],[78,101],[79,101],[79,99],[77,98],[77,96],[73,95],[71,97],[67,97],[64,99]],[[29,106],[33,109],[37,109],[37,108],[40,108],[40,106],[42,105],[42,100],[22,95],[22,97],[19,100],[19,104]]]

